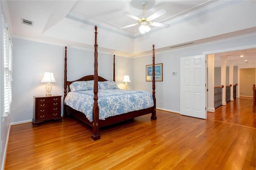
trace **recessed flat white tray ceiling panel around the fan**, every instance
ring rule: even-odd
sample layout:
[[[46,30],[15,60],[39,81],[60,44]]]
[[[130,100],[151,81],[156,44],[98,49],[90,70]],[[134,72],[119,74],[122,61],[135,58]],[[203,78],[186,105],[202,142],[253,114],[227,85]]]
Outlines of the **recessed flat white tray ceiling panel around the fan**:
[[[154,22],[170,23],[171,20],[187,15],[190,12],[195,12],[217,1],[148,0],[146,1],[144,15],[141,0],[78,1],[74,4],[68,15],[117,30],[120,27],[137,23],[136,20],[123,14],[124,12],[129,12],[138,18],[145,18],[160,9],[165,9],[167,13],[156,18]],[[133,26],[126,28],[123,32],[133,36],[139,35],[138,28],[139,25]],[[152,27],[152,29],[157,29],[157,27]]]

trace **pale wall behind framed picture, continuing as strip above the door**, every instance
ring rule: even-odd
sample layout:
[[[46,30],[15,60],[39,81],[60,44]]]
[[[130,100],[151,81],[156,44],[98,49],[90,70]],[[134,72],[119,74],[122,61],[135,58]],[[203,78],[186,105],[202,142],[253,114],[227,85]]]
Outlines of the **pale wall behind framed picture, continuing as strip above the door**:
[[[255,44],[256,35],[184,47],[164,53],[157,53],[158,44],[155,44],[156,63],[163,63],[163,81],[156,82],[156,107],[176,113],[180,112],[180,57],[202,55],[208,51]],[[152,83],[145,80],[145,67],[151,63],[152,56],[134,58],[134,89],[152,91]],[[171,74],[174,71],[176,71],[176,75]],[[160,100],[163,100],[163,103],[160,103]]]

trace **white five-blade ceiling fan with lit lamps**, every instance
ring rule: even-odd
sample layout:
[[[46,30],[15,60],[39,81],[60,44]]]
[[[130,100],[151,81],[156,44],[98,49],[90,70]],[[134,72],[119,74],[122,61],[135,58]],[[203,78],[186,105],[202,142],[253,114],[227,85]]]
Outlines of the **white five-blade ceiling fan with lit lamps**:
[[[145,5],[146,5],[146,1],[142,1],[141,5],[143,6],[143,16],[145,14]],[[157,11],[156,13],[152,14],[151,16],[145,18],[138,18],[134,15],[132,15],[129,12],[124,12],[124,14],[126,14],[127,16],[133,18],[134,20],[137,20],[138,23],[135,24],[131,24],[128,26],[124,26],[124,27],[120,27],[119,29],[125,29],[125,28],[129,28],[132,26],[136,26],[138,24],[141,24],[139,30],[141,34],[146,34],[146,32],[149,32],[151,30],[151,28],[149,26],[157,26],[157,27],[162,27],[162,28],[168,28],[170,26],[170,24],[163,24],[163,23],[159,23],[159,22],[152,22],[152,20],[166,14],[166,10],[161,9],[159,11]]]

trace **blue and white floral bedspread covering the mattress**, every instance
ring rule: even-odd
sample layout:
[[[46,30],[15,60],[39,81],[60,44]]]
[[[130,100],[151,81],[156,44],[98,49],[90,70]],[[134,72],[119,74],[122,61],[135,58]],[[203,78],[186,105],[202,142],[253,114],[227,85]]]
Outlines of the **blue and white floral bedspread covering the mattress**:
[[[93,90],[72,91],[65,98],[64,104],[84,113],[92,122]],[[138,111],[154,106],[151,93],[146,91],[105,89],[98,91],[99,119]]]

